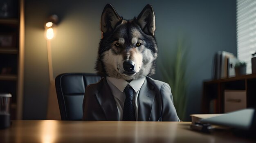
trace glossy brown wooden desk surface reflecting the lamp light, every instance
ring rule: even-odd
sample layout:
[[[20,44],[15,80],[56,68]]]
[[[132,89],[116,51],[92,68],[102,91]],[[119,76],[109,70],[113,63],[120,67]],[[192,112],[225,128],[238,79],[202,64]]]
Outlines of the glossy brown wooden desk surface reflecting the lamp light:
[[[230,132],[205,134],[191,122],[13,121],[1,143],[250,143]]]

